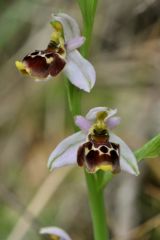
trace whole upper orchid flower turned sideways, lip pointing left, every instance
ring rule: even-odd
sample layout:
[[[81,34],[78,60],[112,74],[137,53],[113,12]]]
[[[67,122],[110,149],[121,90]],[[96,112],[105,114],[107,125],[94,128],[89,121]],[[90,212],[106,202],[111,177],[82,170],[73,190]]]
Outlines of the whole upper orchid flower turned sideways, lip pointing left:
[[[36,50],[16,61],[18,70],[35,80],[48,80],[60,72],[76,87],[90,92],[96,74],[92,64],[77,50],[85,41],[77,22],[67,14],[53,14],[53,33],[45,50]]]

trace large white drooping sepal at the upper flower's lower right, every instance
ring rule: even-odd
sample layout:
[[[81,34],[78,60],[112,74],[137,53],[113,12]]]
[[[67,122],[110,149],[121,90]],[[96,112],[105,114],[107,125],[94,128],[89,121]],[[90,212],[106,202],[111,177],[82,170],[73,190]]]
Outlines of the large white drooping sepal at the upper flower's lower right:
[[[95,84],[94,67],[77,50],[68,53],[63,71],[73,85],[86,92],[90,92]]]

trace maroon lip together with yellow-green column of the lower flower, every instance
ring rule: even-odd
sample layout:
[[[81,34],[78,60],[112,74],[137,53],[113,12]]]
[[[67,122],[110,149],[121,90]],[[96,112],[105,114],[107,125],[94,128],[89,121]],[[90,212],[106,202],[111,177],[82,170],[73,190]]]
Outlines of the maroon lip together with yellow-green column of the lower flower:
[[[87,141],[78,149],[77,163],[90,173],[99,169],[113,173],[120,171],[120,147],[109,141],[105,117],[106,112],[97,114],[96,123],[90,128]]]

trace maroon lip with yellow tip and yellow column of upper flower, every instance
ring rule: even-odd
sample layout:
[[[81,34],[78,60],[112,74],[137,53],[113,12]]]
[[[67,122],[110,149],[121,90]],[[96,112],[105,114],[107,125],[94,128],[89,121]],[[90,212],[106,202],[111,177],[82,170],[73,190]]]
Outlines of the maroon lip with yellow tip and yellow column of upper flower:
[[[60,25],[60,23],[57,24]],[[26,55],[22,62],[16,61],[19,71],[37,80],[49,79],[60,73],[66,64],[66,50],[62,35],[62,28],[55,28],[45,50],[36,50]]]

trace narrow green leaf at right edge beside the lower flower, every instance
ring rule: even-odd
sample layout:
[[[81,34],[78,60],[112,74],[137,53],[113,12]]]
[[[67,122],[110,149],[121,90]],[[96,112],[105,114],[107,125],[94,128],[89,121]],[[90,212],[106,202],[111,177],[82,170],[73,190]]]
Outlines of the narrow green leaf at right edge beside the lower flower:
[[[145,158],[160,157],[160,134],[152,138],[143,147],[135,151],[135,156],[138,161]]]

